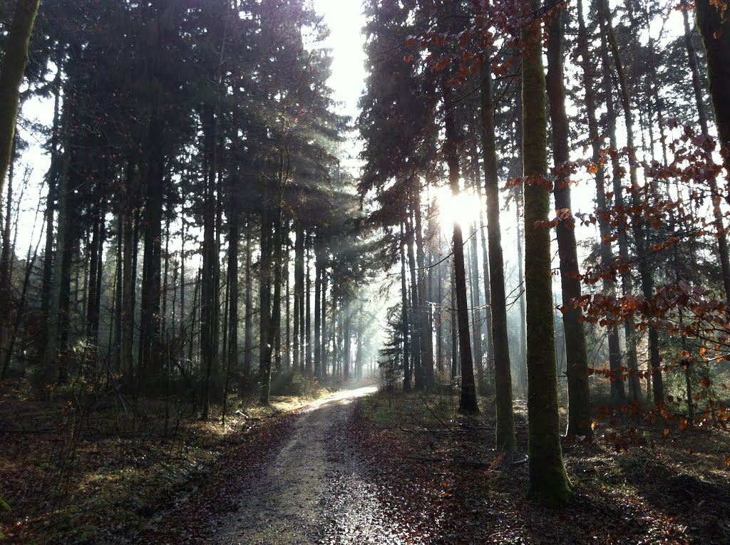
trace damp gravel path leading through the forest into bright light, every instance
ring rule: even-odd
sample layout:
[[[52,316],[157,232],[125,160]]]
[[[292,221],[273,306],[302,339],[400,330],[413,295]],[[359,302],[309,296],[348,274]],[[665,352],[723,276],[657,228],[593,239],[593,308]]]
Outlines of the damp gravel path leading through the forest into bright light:
[[[363,460],[345,425],[353,400],[373,387],[312,403],[258,475],[245,479],[231,512],[212,521],[218,544],[364,544],[400,542],[359,473]]]

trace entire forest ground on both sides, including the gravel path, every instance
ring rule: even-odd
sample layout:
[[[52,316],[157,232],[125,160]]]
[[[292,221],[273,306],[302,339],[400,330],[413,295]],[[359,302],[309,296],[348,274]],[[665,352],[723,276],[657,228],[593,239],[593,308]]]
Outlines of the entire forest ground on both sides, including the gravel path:
[[[520,453],[505,460],[488,399],[465,417],[453,395],[370,392],[280,398],[225,428],[181,419],[174,435],[155,420],[101,433],[98,414],[67,414],[73,449],[69,422],[42,428],[57,407],[44,416],[46,402],[0,392],[0,495],[12,504],[0,542],[730,543],[722,430],[601,420],[593,444],[564,441],[575,498],[548,509],[525,498],[522,400]]]

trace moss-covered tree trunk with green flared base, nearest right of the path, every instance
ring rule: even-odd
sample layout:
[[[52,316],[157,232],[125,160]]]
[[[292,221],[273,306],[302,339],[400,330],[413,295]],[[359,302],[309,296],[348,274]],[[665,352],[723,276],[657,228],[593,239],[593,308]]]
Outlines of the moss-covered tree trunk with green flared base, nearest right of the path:
[[[539,12],[539,2],[529,8]],[[529,418],[529,495],[543,503],[564,503],[572,486],[563,465],[558,414],[558,376],[553,325],[548,221],[548,120],[542,31],[537,16],[523,26],[523,163],[525,187],[525,289],[527,298],[527,369]]]

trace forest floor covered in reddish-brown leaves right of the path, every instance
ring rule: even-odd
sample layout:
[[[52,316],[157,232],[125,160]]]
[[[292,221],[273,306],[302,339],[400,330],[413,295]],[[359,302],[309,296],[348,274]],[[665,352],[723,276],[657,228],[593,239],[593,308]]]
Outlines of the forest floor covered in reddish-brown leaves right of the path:
[[[515,399],[518,455],[493,449],[493,405],[458,414],[449,395],[364,399],[350,433],[370,452],[414,542],[433,544],[730,543],[730,434],[596,422],[596,441],[563,441],[575,497],[559,509],[526,500],[526,406]]]

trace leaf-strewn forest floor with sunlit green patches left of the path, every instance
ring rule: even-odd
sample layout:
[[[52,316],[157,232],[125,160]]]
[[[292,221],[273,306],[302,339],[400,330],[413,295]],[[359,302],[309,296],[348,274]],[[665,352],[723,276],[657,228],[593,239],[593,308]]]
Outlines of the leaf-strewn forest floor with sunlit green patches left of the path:
[[[0,390],[0,543],[125,543],[159,511],[185,501],[226,449],[277,417],[328,395],[228,398],[209,419],[183,401],[96,395],[77,388],[34,398]]]

